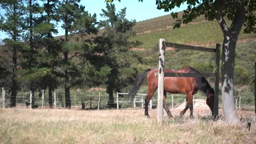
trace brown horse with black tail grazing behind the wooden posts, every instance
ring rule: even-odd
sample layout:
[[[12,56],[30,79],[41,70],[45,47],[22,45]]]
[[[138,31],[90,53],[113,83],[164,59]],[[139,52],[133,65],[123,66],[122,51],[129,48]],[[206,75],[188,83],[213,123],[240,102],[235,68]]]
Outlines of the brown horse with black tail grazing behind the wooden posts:
[[[141,88],[142,82],[144,80],[144,75],[147,73],[148,79],[148,94],[145,99],[145,116],[149,117],[148,114],[148,104],[156,89],[158,88],[158,77],[155,73],[158,69],[146,69],[139,75],[136,85],[132,88],[131,92],[128,94],[132,99],[135,97],[139,88]],[[180,70],[168,70],[165,69],[165,73],[199,73],[191,67],[182,68]],[[167,112],[168,117],[172,117],[171,111],[166,105],[166,93],[184,93],[187,95],[187,105],[185,109],[181,112],[181,116],[188,110],[190,110],[190,117],[193,118],[193,95],[200,90],[206,94],[206,103],[210,107],[213,115],[214,106],[214,90],[211,88],[205,77],[165,77],[164,78],[164,109]]]

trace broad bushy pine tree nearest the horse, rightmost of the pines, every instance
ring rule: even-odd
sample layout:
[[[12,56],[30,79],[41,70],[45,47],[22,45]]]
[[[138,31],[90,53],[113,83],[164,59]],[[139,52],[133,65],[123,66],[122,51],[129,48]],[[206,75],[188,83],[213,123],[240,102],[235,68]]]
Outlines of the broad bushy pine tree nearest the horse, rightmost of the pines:
[[[103,36],[97,37],[95,43],[97,49],[102,53],[104,64],[111,69],[107,76],[107,93],[109,94],[109,105],[114,103],[114,91],[120,92],[120,89],[127,86],[129,79],[134,79],[134,75],[138,71],[132,68],[132,64],[137,62],[138,55],[134,51],[130,51],[131,47],[137,46],[138,41],[132,42],[128,39],[135,32],[132,27],[136,21],[129,21],[125,18],[126,8],[116,13],[115,5],[108,4],[106,10],[102,9],[101,16],[105,20],[100,21],[100,27],[104,29]]]

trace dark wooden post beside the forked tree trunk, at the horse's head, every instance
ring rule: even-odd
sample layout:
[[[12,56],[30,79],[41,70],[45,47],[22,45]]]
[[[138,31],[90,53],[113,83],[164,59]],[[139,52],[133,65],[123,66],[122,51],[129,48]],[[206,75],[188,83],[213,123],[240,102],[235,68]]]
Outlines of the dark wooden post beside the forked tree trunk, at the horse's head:
[[[214,83],[214,109],[213,117],[217,118],[219,115],[219,57],[220,57],[220,44],[216,44],[216,71],[215,71],[215,83]]]

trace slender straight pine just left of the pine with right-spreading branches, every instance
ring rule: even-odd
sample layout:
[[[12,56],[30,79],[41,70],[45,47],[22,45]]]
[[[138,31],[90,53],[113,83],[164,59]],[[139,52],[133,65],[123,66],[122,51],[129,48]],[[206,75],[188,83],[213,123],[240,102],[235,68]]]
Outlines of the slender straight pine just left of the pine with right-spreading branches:
[[[59,71],[57,71],[57,65],[59,65],[60,58],[60,45],[58,41],[54,39],[53,34],[57,33],[56,23],[59,21],[59,16],[57,15],[57,0],[42,0],[44,14],[39,18],[41,22],[41,28],[39,29],[38,37],[42,38],[42,46],[46,49],[46,51],[40,54],[40,67],[47,68],[48,73],[44,77],[44,85],[45,89],[48,87],[48,95],[49,95],[49,107],[53,107],[53,89],[57,87],[57,77],[61,75]]]

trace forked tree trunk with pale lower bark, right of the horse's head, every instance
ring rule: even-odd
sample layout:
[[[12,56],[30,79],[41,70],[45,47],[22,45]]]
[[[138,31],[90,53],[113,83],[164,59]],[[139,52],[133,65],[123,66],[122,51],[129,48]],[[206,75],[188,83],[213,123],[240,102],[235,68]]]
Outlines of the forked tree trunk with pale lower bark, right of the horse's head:
[[[219,2],[216,10],[216,20],[223,32],[223,51],[222,51],[222,105],[226,122],[238,122],[236,117],[235,97],[234,97],[234,67],[235,50],[238,35],[245,20],[245,1],[236,0],[234,2],[236,11],[231,26],[225,22],[223,11],[225,1]]]

